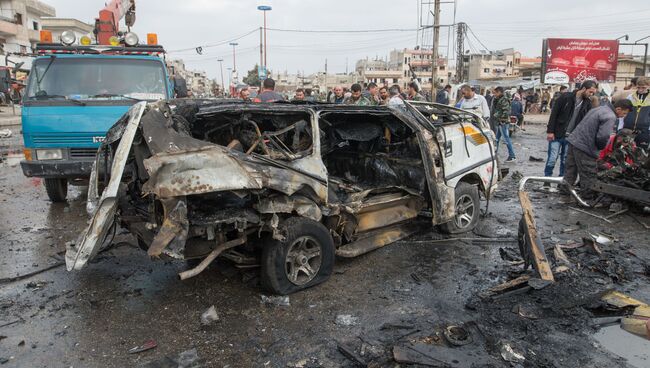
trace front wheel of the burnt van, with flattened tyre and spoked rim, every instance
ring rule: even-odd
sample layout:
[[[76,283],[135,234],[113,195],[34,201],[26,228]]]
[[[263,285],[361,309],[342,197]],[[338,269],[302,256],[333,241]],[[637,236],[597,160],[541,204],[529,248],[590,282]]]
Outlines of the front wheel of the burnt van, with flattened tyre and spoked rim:
[[[292,217],[284,226],[285,239],[270,241],[262,251],[262,286],[287,295],[326,281],[335,258],[327,228],[302,217]]]

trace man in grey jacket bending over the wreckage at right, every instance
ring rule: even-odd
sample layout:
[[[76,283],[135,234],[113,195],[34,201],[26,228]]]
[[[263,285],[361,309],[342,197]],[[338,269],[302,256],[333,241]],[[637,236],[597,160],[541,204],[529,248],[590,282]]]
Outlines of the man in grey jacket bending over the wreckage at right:
[[[593,194],[589,187],[596,178],[596,160],[614,132],[617,119],[625,118],[633,110],[632,102],[619,100],[614,110],[609,105],[592,108],[567,138],[568,153],[564,182],[573,187],[580,176],[585,194]]]

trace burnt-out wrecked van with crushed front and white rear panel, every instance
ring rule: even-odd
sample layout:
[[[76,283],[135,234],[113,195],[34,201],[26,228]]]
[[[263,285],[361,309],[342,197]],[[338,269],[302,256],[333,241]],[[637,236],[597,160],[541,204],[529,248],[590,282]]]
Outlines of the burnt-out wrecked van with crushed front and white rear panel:
[[[98,150],[67,268],[119,225],[153,258],[201,260],[181,279],[220,256],[292,293],[329,278],[335,256],[471,231],[500,179],[493,142],[480,117],[428,103],[138,103]]]

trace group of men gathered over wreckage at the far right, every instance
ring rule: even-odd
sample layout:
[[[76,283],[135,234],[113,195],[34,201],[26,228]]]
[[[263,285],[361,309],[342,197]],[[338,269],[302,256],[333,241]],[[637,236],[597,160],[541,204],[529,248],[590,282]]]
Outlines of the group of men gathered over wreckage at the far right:
[[[565,184],[580,184],[585,198],[593,198],[591,184],[600,171],[633,175],[646,165],[650,142],[650,81],[633,78],[611,100],[602,98],[598,84],[585,81],[557,98],[547,125],[545,176],[557,161]],[[612,171],[613,169],[617,169]],[[548,186],[548,185],[547,185]]]

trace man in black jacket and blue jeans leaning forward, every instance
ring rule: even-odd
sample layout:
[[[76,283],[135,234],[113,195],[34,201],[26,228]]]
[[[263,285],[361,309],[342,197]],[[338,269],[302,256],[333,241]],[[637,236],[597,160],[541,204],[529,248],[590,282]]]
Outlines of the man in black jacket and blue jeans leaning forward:
[[[548,155],[544,176],[553,176],[555,163],[560,158],[560,176],[564,176],[568,142],[566,136],[580,123],[580,120],[591,109],[589,97],[598,90],[594,81],[585,81],[580,89],[560,96],[553,104],[551,116],[546,126],[546,140],[548,140]],[[546,184],[545,184],[546,185]]]

